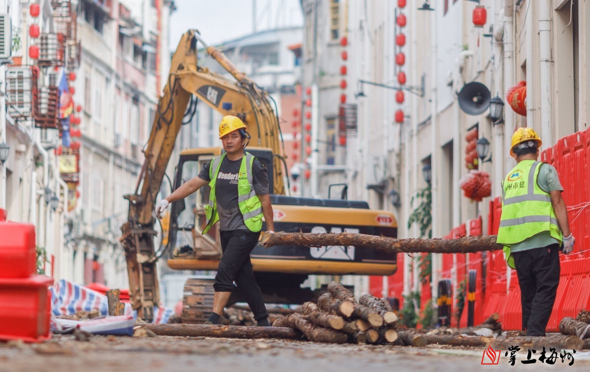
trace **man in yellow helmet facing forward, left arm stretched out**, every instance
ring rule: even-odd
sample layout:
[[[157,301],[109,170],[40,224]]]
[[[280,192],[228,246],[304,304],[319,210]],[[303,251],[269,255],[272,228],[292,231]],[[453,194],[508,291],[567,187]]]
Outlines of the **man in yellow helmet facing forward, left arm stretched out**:
[[[244,122],[235,116],[224,116],[219,123],[219,139],[225,153],[214,157],[201,172],[156,205],[156,216],[169,203],[183,199],[209,185],[209,204],[205,205],[207,233],[219,222],[223,255],[215,275],[213,312],[205,324],[218,324],[234,282],[254,313],[258,325],[266,326],[268,313],[263,295],[254,278],[250,252],[258,243],[262,218],[268,233],[274,233],[273,206],[268,195],[266,168],[245,151],[250,135]]]

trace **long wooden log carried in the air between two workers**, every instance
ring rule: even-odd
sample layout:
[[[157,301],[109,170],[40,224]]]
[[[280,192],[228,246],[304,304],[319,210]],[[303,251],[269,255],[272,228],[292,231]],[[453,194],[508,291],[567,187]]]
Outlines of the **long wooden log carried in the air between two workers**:
[[[503,246],[496,243],[496,235],[466,236],[459,239],[395,239],[385,236],[352,232],[342,233],[265,233],[260,243],[266,248],[276,245],[303,245],[320,247],[352,245],[356,248],[378,249],[389,254],[396,253],[477,253],[497,251]]]

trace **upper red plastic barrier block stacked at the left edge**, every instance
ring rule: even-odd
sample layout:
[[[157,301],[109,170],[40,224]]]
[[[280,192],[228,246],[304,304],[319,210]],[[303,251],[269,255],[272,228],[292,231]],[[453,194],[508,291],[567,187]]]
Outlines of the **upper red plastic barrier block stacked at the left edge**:
[[[0,278],[26,278],[34,274],[37,269],[35,226],[0,222],[0,236]]]

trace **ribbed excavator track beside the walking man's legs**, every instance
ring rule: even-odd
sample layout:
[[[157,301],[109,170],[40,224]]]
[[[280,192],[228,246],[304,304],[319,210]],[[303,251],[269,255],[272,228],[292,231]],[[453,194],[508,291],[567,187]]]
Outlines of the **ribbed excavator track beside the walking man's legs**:
[[[213,311],[214,279],[188,279],[182,298],[183,323],[203,324]]]

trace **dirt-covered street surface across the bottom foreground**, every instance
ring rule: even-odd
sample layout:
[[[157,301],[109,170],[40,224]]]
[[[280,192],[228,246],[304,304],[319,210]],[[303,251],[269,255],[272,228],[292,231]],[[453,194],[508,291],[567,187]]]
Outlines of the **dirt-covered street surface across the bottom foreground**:
[[[503,353],[497,366],[481,366],[483,348],[430,345],[425,348],[392,345],[336,345],[307,341],[235,340],[205,337],[133,338],[93,336],[76,341],[57,335],[42,344],[0,344],[1,372],[45,371],[484,371],[590,370],[590,356],[575,354],[575,363],[553,366],[522,364],[517,354],[510,366]],[[537,351],[536,356],[538,357]],[[565,369],[563,369],[565,368]]]

